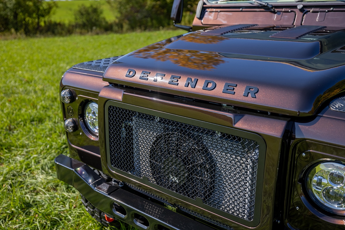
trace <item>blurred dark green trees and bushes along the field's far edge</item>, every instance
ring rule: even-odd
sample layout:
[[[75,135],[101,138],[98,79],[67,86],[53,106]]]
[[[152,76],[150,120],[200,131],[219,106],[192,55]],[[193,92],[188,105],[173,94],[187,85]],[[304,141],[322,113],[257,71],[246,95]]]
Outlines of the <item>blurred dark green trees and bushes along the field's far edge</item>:
[[[55,22],[50,16],[57,3],[45,0],[0,0],[0,32],[26,35],[67,35],[85,32],[124,32],[161,29],[172,26],[170,12],[174,0],[106,0],[117,15],[109,22],[103,17],[98,2],[81,5],[75,11],[73,23]],[[198,0],[184,1],[182,24],[191,25]]]

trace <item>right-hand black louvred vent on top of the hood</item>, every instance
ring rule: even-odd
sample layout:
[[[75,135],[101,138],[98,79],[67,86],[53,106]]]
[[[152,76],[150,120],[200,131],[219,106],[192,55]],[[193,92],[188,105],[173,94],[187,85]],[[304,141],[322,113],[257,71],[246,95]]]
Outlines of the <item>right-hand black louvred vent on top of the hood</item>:
[[[309,33],[326,28],[325,26],[299,26],[272,34],[270,38],[298,39]]]

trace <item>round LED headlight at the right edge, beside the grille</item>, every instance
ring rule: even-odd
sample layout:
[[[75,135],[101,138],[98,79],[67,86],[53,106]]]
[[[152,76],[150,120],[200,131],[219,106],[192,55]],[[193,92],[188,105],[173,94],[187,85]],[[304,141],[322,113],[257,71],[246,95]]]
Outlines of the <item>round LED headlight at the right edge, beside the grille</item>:
[[[345,165],[324,162],[312,167],[306,178],[309,196],[323,209],[345,213]]]

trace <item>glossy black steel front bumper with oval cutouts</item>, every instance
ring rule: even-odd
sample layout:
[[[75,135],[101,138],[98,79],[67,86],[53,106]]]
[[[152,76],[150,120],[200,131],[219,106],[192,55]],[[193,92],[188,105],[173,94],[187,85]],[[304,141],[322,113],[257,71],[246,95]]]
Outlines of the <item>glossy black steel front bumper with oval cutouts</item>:
[[[107,182],[81,161],[60,154],[55,164],[59,180],[75,187],[96,208],[138,229],[212,229],[131,193],[116,182]],[[136,221],[138,215],[147,222]]]

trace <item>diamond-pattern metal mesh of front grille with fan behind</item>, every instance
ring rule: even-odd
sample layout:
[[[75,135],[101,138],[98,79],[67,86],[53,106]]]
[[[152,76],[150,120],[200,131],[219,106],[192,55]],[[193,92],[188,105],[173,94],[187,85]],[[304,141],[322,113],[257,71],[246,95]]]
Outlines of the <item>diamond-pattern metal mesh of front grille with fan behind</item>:
[[[114,168],[253,220],[256,141],[115,106],[108,114]]]

